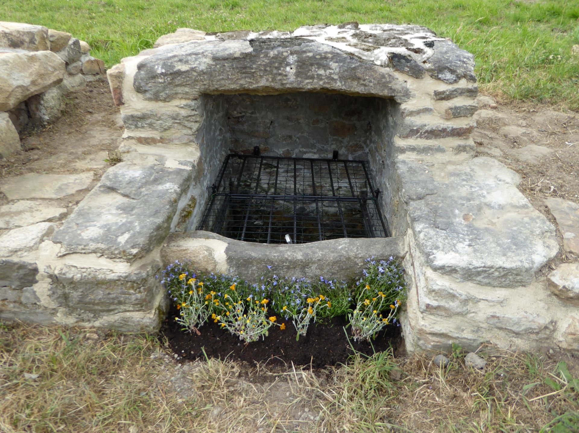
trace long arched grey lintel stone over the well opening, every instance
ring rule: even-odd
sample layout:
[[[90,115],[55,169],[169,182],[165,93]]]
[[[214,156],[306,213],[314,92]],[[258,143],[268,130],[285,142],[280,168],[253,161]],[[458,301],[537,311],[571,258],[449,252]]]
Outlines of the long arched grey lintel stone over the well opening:
[[[259,94],[272,88],[280,93],[324,90],[394,97],[398,102],[411,95],[390,69],[306,38],[170,45],[137,68],[135,90],[145,99],[161,101],[212,92]]]

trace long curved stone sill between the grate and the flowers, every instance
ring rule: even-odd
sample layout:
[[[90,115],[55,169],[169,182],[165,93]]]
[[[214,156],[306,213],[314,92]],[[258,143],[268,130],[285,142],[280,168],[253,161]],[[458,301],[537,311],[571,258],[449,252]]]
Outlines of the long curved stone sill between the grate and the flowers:
[[[257,281],[273,266],[276,273],[288,277],[306,277],[352,281],[360,276],[365,262],[375,256],[388,260],[406,253],[402,238],[332,239],[299,245],[267,245],[243,242],[207,232],[173,233],[164,243],[164,264],[175,260],[190,261],[192,267],[206,272],[225,272]]]

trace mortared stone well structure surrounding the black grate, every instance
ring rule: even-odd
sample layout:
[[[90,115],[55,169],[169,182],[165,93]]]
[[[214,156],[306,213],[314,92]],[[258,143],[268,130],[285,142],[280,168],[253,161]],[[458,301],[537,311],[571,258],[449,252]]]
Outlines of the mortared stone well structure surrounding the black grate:
[[[3,317],[155,330],[166,308],[155,275],[175,259],[247,278],[270,264],[347,279],[369,256],[397,256],[409,350],[579,347],[577,295],[545,276],[555,228],[515,172],[474,157],[474,59],[449,40],[412,25],[179,29],[108,78],[123,162],[38,250],[10,258],[26,280],[13,290],[36,298]],[[391,236],[264,245],[196,231],[223,158],[254,146],[367,160]]]

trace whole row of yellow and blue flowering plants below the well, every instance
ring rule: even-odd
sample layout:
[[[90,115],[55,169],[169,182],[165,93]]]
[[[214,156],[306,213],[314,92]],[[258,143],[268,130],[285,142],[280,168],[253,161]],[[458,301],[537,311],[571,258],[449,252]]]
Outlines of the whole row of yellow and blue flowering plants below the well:
[[[310,323],[348,314],[354,340],[375,338],[389,324],[400,326],[397,314],[405,301],[404,269],[392,257],[366,260],[362,277],[352,287],[346,282],[262,275],[250,284],[239,277],[190,271],[175,261],[163,271],[162,283],[178,310],[182,329],[200,334],[208,320],[247,343],[265,338],[281,316],[291,320],[296,339]]]

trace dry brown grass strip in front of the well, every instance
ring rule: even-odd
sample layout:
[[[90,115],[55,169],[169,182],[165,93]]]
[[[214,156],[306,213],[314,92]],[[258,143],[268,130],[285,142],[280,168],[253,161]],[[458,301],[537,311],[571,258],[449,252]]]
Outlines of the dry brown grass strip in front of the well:
[[[558,371],[562,355],[483,347],[483,372],[460,354],[447,369],[388,353],[318,371],[181,366],[152,336],[0,328],[2,433],[579,431],[579,383]],[[578,378],[577,360],[566,361]]]

